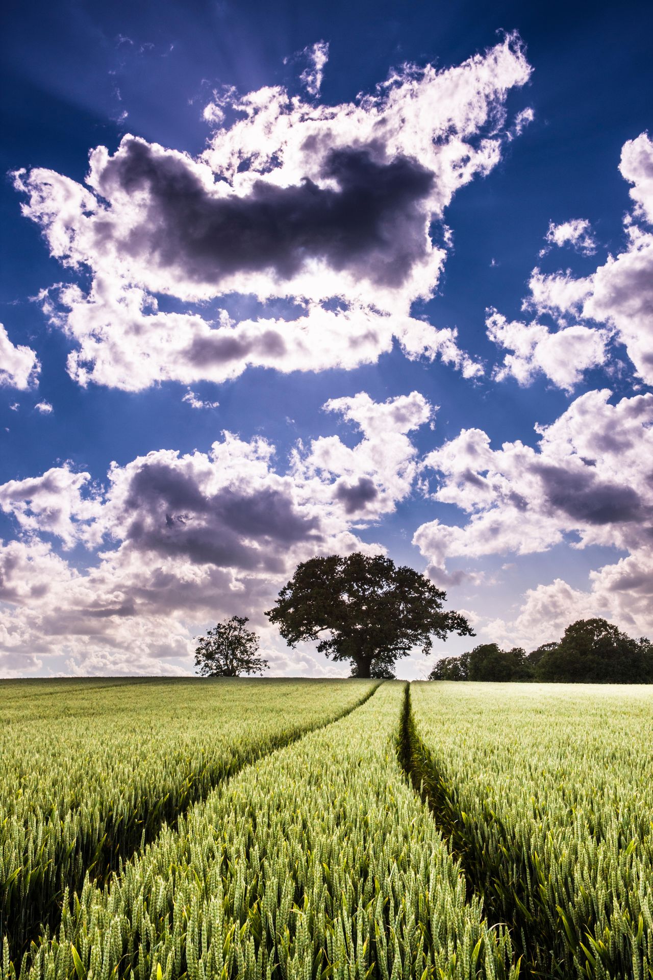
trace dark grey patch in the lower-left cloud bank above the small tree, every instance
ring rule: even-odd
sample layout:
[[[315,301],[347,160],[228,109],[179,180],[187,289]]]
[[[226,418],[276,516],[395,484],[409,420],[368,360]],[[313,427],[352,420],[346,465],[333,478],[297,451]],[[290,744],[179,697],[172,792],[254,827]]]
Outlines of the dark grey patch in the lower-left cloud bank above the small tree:
[[[285,549],[320,540],[317,518],[298,514],[278,490],[225,488],[206,496],[192,475],[165,464],[145,464],[134,474],[126,507],[134,512],[126,533],[134,547],[198,564],[277,570]]]

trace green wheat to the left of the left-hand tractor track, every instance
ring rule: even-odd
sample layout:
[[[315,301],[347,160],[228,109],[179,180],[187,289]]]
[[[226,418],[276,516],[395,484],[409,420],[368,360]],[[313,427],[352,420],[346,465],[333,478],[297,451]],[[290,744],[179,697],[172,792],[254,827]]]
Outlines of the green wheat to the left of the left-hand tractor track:
[[[350,711],[350,680],[0,683],[0,934],[7,960],[243,765]]]

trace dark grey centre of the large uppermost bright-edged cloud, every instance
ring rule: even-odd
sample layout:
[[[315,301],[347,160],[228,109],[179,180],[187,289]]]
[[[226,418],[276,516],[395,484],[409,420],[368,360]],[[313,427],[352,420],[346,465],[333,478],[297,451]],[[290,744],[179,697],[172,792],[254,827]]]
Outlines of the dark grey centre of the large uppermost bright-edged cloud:
[[[111,200],[120,189],[144,194],[147,218],[120,237],[127,254],[215,283],[239,271],[271,270],[291,278],[310,259],[396,286],[426,254],[422,204],[434,175],[417,161],[386,161],[378,145],[327,153],[321,176],[299,186],[257,180],[247,197],[218,197],[178,155],[125,138],[99,175]],[[95,221],[99,244],[120,232]]]

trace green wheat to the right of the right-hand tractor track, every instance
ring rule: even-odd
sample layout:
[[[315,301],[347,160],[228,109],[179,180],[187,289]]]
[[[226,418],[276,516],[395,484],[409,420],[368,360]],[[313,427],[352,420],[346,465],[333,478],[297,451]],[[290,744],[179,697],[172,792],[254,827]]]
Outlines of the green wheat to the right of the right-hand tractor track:
[[[411,685],[415,780],[524,971],[653,976],[653,690]]]

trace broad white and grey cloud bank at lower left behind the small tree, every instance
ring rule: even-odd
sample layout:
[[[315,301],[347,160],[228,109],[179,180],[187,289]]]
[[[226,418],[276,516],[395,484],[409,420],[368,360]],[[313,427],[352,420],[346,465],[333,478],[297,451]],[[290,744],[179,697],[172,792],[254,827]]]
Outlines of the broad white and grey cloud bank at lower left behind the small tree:
[[[306,558],[383,551],[356,530],[410,493],[409,433],[433,411],[416,392],[385,403],[359,393],[325,409],[357,441],[298,444],[285,466],[264,439],[223,433],[208,453],[114,464],[103,486],[68,465],[0,486],[0,508],[23,535],[0,546],[3,669],[33,668],[29,650],[41,664],[64,656],[73,671],[169,672],[189,663],[207,621],[240,613],[288,672],[261,611]],[[75,545],[89,549],[86,570],[67,561]],[[309,656],[302,669],[320,670]]]

